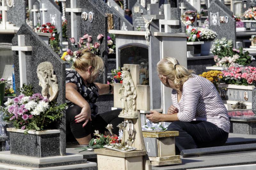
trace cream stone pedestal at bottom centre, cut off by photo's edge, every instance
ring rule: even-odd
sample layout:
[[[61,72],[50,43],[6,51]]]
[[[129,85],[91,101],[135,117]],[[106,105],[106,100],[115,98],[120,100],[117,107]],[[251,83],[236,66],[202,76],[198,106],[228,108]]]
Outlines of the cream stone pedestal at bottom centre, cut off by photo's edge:
[[[95,149],[99,170],[142,170],[142,156],[146,151],[118,152],[107,149]]]

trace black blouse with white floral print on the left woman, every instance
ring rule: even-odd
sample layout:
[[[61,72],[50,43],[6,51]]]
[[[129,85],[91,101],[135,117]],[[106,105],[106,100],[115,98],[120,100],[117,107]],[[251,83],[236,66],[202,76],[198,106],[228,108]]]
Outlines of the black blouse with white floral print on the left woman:
[[[89,103],[91,107],[92,116],[97,115],[98,106],[95,104],[96,100],[99,97],[98,89],[94,83],[88,84],[88,87],[84,84],[81,76],[78,74],[76,70],[66,71],[66,84],[74,83],[78,92],[84,97],[84,99]],[[68,107],[73,107],[74,104],[66,99],[66,103]]]

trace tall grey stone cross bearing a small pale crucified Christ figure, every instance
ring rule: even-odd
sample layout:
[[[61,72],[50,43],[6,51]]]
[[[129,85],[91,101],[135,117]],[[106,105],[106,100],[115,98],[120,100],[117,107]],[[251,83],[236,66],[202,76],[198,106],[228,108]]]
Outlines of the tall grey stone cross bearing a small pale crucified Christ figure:
[[[150,39],[148,47],[149,62],[149,86],[150,86],[150,110],[162,109],[161,82],[155,71],[157,63],[160,61],[160,41],[154,36],[155,32],[159,32],[159,19],[164,19],[164,15],[159,15],[158,4],[148,4],[148,15],[143,15],[146,19],[153,18],[150,24]]]

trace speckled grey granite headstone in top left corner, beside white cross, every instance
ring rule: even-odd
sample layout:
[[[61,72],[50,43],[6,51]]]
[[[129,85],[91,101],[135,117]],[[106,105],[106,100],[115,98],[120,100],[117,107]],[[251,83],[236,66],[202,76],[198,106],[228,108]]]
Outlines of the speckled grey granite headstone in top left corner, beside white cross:
[[[22,24],[26,23],[26,2],[24,0],[11,2],[12,6],[9,6],[9,10],[7,11],[7,21],[20,27]]]

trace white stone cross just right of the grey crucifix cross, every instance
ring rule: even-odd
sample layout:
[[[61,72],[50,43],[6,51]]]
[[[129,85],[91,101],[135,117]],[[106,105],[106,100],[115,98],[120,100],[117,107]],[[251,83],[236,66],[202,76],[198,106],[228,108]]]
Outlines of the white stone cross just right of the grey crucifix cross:
[[[171,26],[179,26],[179,20],[171,20],[171,4],[164,4],[164,19],[159,19],[159,27],[164,25],[164,32],[171,33]],[[160,29],[161,32],[161,29]]]

